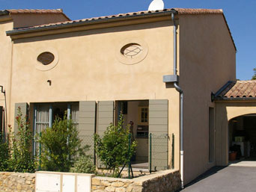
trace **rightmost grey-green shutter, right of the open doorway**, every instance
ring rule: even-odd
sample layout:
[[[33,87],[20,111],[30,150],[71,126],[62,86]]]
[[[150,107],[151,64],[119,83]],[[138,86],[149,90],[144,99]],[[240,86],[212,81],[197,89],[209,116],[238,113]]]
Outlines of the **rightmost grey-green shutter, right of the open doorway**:
[[[168,169],[168,100],[167,99],[149,100],[149,134],[152,135],[151,137],[152,138],[151,169],[152,170]],[[149,158],[150,158],[150,155],[149,155]]]

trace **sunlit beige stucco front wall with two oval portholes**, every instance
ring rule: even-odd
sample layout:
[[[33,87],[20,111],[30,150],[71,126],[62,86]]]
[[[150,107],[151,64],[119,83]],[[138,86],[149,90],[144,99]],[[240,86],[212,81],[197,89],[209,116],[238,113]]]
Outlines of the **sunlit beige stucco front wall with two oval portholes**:
[[[172,72],[171,31],[168,20],[14,40],[9,123],[13,125],[17,102],[168,99],[168,130],[175,134],[178,167],[179,93],[162,82],[162,75]],[[122,64],[116,54],[122,42],[134,43],[134,38],[147,45],[147,57],[138,64]],[[58,64],[41,71],[37,56],[47,50],[58,55]]]

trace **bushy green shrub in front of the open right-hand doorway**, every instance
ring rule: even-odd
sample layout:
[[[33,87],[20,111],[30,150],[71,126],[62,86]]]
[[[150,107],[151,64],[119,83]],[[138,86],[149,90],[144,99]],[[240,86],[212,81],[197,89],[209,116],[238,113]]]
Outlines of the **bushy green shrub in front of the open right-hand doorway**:
[[[118,125],[110,124],[102,138],[99,134],[94,135],[97,157],[107,169],[113,170],[113,176],[117,168],[127,164],[135,152],[135,141],[129,146],[129,126],[123,128],[123,124],[123,115],[121,115]]]

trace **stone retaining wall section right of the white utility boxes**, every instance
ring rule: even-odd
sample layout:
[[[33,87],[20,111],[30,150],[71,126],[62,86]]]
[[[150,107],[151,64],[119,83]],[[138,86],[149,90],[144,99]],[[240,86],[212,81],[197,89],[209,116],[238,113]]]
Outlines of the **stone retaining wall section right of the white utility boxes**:
[[[180,173],[177,170],[159,171],[135,179],[94,177],[94,192],[172,192],[180,188]]]

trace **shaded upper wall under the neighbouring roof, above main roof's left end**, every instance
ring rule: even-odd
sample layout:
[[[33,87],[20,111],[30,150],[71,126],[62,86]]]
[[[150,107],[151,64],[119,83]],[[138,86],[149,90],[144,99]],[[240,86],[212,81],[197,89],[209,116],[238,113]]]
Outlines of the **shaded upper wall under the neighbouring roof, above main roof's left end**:
[[[33,13],[22,13],[22,14],[12,14],[11,17],[13,18],[13,28],[24,28],[24,27],[31,27],[36,25],[43,25],[48,23],[55,23],[55,22],[65,22],[69,21],[70,19],[64,14],[33,14]]]

